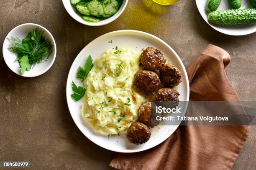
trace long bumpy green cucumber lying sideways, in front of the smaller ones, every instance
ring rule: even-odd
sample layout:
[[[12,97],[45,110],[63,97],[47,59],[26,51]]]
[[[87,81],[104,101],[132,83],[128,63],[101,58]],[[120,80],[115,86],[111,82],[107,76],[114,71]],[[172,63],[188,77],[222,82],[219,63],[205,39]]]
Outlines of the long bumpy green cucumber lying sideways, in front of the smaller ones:
[[[220,10],[209,13],[210,23],[218,25],[249,25],[256,23],[256,9]]]

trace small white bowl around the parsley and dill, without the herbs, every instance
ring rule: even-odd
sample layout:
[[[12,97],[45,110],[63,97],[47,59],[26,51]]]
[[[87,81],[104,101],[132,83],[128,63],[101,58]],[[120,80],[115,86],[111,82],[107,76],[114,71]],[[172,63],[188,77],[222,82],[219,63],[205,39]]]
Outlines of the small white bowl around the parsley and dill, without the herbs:
[[[9,50],[10,40],[8,38],[11,37],[18,37],[20,40],[24,39],[28,32],[33,32],[36,28],[39,28],[40,30],[44,31],[43,36],[46,38],[46,40],[51,41],[51,44],[54,45],[52,49],[52,53],[47,61],[42,61],[39,64],[36,64],[34,67],[31,67],[30,71],[26,71],[23,75],[20,73],[20,65],[18,62],[15,62],[17,54],[13,52],[12,50]],[[51,35],[51,33],[46,30],[46,28],[42,27],[41,25],[27,23],[19,25],[13,30],[11,30],[8,35],[5,37],[4,43],[3,43],[3,57],[5,60],[5,63],[7,66],[16,74],[21,75],[23,77],[36,77],[38,75],[44,74],[47,70],[50,69],[50,67],[53,65],[55,57],[56,57],[56,43],[54,41],[54,37]]]

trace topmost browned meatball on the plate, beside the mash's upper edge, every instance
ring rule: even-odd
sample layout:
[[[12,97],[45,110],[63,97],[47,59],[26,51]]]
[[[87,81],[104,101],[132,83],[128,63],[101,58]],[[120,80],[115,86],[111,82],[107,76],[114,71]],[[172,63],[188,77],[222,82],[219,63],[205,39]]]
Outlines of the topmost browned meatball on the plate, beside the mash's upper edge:
[[[147,47],[141,53],[141,65],[147,70],[159,70],[164,67],[166,59],[160,50]]]

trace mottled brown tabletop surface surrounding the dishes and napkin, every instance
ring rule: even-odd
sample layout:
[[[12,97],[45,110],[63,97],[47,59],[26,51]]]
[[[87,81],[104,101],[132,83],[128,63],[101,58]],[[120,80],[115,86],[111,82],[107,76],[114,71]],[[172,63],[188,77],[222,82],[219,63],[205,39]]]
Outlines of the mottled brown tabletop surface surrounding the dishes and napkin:
[[[194,0],[168,7],[151,0],[129,0],[117,20],[100,27],[72,19],[61,0],[1,0],[0,4],[1,45],[8,32],[23,23],[43,25],[57,45],[54,65],[39,77],[16,75],[0,57],[0,161],[27,160],[30,169],[37,170],[112,169],[108,164],[113,152],[95,145],[78,130],[65,91],[69,68],[80,50],[114,30],[141,30],[160,37],[186,67],[207,43],[218,45],[232,57],[227,75],[241,100],[256,101],[256,33],[235,37],[213,30]],[[256,126],[252,126],[233,170],[255,168]]]

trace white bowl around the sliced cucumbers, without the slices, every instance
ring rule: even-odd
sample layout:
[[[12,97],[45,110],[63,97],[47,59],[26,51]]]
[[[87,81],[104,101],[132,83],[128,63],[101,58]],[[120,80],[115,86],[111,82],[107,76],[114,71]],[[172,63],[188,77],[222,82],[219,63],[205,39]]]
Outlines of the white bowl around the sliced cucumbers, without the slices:
[[[117,13],[115,13],[115,15],[113,15],[110,18],[106,18],[106,19],[100,20],[100,22],[98,22],[98,23],[90,23],[90,22],[87,22],[87,21],[83,20],[82,17],[80,15],[78,15],[76,13],[76,11],[74,10],[74,8],[72,7],[72,5],[70,3],[70,0],[62,0],[62,2],[63,2],[63,5],[64,5],[65,9],[69,13],[69,15],[72,18],[74,18],[74,20],[77,20],[79,23],[82,23],[84,25],[101,26],[101,25],[106,25],[108,23],[111,23],[115,19],[117,19],[123,13],[123,11],[125,10],[125,7],[126,7],[126,5],[128,3],[128,0],[123,0],[123,3],[121,5],[120,9],[118,10]]]

